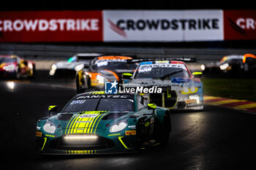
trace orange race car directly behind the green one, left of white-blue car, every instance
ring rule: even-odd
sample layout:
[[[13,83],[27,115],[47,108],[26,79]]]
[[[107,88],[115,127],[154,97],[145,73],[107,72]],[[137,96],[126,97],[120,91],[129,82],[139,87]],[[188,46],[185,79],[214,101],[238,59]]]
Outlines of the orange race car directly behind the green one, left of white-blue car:
[[[76,74],[76,89],[78,93],[89,88],[104,88],[105,82],[121,82],[123,73],[135,71],[135,63],[128,64],[132,57],[120,55],[106,55],[94,58],[89,65],[80,66],[83,69]]]

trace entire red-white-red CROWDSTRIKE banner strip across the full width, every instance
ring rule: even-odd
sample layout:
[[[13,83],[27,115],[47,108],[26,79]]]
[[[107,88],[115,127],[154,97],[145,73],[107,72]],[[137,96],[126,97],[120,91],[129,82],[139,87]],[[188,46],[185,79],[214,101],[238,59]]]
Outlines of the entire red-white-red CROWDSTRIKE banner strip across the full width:
[[[0,42],[194,42],[256,39],[256,10],[0,12]]]

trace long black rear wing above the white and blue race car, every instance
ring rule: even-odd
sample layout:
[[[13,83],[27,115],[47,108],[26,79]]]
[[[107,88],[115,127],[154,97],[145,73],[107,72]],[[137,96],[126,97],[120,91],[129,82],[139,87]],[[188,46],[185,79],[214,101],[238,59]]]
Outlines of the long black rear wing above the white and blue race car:
[[[127,63],[140,63],[143,61],[184,61],[189,63],[197,62],[196,58],[140,58],[128,60]]]

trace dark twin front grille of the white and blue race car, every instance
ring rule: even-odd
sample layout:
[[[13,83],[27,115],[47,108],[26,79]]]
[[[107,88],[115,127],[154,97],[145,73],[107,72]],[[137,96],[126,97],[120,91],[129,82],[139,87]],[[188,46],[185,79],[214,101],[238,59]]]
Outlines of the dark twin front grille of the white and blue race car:
[[[175,90],[171,90],[170,94],[164,93],[165,96],[165,107],[174,107],[177,101],[177,94]],[[152,104],[157,104],[157,106],[162,107],[162,93],[152,93],[150,94],[150,102]]]

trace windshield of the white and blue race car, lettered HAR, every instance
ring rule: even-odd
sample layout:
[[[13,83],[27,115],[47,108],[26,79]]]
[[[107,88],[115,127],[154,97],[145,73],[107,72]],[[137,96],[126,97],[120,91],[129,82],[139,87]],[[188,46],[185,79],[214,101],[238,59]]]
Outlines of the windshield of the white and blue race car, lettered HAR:
[[[170,79],[171,77],[190,77],[184,64],[147,64],[141,65],[135,79],[152,78],[152,79]]]

